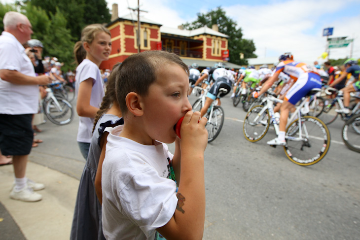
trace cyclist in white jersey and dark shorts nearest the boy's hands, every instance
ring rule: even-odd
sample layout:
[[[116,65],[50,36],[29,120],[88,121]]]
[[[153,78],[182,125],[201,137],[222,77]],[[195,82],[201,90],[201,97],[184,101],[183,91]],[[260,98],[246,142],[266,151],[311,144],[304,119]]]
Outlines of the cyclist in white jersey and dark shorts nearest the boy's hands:
[[[220,66],[221,67],[215,69],[212,73],[212,77],[214,78],[215,83],[206,95],[204,107],[200,110],[201,116],[205,115],[208,108],[216,100],[216,98],[218,101],[217,105],[220,105],[221,102],[219,98],[222,98],[228,94],[231,91],[231,86],[234,84],[235,78],[233,71],[224,69],[222,65]],[[220,91],[222,91],[222,93],[217,97]]]

